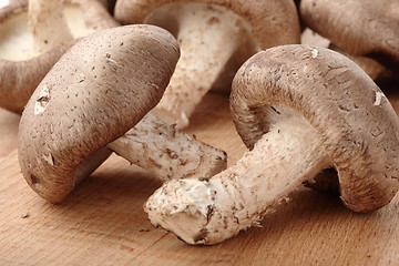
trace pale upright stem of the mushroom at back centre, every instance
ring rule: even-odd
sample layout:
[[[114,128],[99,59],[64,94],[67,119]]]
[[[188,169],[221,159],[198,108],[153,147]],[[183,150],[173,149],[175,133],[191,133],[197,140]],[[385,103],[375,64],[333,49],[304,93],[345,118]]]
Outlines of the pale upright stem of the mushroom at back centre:
[[[245,39],[244,22],[232,11],[217,6],[168,4],[163,9],[153,17],[158,19],[160,13],[166,13],[177,20],[176,39],[182,55],[155,112],[164,121],[185,127],[195,106]],[[153,23],[152,20],[150,18],[147,22]]]

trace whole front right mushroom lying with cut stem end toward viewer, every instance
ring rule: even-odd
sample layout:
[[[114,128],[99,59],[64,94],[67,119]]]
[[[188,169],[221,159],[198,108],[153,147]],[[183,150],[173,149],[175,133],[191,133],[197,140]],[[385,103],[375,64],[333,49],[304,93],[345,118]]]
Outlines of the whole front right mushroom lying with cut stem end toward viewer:
[[[352,61],[324,48],[282,45],[252,57],[233,80],[231,110],[250,150],[212,178],[166,182],[145,204],[154,225],[190,244],[216,244],[259,222],[332,166],[355,212],[399,190],[399,122]]]

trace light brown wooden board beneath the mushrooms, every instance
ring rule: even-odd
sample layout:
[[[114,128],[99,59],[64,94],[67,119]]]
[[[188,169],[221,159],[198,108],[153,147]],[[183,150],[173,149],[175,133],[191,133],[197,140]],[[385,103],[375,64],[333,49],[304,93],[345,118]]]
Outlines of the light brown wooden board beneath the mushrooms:
[[[153,228],[142,206],[161,183],[115,155],[64,203],[50,204],[20,174],[18,122],[0,111],[0,265],[399,265],[398,195],[356,214],[299,188],[262,228],[208,247]],[[187,131],[224,149],[229,165],[245,150],[225,96],[208,95]]]

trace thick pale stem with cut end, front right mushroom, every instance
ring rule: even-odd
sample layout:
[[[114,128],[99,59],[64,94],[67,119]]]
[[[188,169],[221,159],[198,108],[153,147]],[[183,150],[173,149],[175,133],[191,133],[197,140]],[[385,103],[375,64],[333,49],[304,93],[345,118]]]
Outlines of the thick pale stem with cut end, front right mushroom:
[[[303,117],[278,122],[253,151],[214,177],[165,183],[145,204],[154,225],[190,244],[212,245],[253,225],[313,181],[329,161]]]

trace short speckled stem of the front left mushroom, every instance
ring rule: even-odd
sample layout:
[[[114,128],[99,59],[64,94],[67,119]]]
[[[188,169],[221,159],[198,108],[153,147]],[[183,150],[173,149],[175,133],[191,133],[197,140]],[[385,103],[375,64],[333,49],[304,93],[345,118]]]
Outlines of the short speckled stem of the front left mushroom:
[[[209,177],[226,168],[223,151],[165,124],[152,113],[108,146],[164,181]]]

